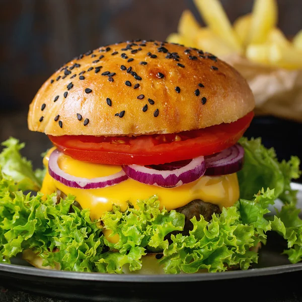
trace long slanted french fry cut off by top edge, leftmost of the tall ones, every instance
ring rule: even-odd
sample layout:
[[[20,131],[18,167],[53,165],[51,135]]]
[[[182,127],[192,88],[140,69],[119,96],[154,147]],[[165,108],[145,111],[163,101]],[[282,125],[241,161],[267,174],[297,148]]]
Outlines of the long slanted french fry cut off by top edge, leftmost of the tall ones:
[[[242,53],[240,40],[220,2],[218,0],[194,0],[194,3],[210,30],[232,47],[233,52]]]

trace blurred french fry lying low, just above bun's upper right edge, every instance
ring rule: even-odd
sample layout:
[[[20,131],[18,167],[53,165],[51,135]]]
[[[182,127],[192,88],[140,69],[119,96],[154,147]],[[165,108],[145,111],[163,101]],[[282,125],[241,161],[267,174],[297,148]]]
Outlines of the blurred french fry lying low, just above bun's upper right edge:
[[[234,49],[225,44],[208,28],[201,28],[195,37],[196,47],[214,55],[223,56],[234,53]]]

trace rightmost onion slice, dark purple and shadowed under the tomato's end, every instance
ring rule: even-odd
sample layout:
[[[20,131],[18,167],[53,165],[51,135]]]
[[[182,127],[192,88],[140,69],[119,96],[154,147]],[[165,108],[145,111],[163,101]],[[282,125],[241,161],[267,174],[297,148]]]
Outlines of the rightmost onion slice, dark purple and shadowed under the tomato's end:
[[[226,175],[242,169],[244,148],[235,144],[230,148],[205,157],[205,175]]]

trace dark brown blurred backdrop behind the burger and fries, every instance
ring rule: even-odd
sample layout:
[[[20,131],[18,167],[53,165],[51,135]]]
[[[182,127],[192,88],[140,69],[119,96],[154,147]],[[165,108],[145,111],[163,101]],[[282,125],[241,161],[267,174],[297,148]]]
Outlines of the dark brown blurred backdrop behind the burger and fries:
[[[253,3],[221,0],[232,23],[250,13]],[[45,134],[27,129],[27,110],[58,66],[105,44],[136,38],[164,41],[177,32],[186,9],[204,26],[192,0],[0,0],[0,4],[0,141],[9,136],[25,141],[24,155],[36,167],[50,142]],[[302,29],[302,1],[277,4],[278,27],[293,37]],[[255,118],[246,135],[262,136],[280,159],[302,158],[301,130],[297,120],[265,114]]]

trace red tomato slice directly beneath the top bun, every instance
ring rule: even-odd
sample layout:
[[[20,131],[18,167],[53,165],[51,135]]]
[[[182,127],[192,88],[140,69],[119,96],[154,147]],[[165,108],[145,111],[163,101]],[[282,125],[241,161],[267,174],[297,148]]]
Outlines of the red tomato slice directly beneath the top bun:
[[[177,134],[140,136],[62,135],[49,139],[73,159],[109,165],[159,165],[211,155],[234,145],[249,127],[254,113]]]

